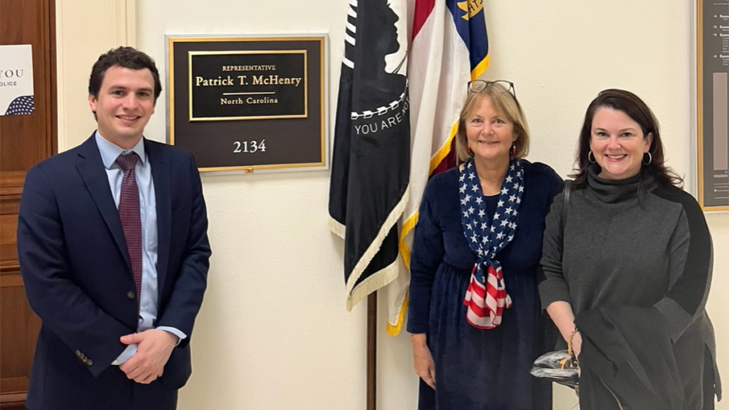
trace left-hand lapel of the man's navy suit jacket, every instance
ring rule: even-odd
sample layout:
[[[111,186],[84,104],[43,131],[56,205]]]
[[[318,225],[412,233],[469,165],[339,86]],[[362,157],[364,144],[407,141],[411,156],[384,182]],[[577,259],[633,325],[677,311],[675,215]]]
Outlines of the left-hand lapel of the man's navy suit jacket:
[[[76,166],[81,178],[86,185],[87,190],[91,193],[98,211],[104,217],[106,226],[114,237],[120,252],[124,255],[127,267],[131,271],[131,263],[129,261],[129,252],[127,250],[127,242],[124,239],[124,231],[122,231],[122,223],[119,219],[119,211],[114,204],[112,190],[109,187],[109,177],[106,176],[104,163],[101,161],[101,154],[96,146],[95,134],[91,134],[80,147],[79,157],[82,160]]]

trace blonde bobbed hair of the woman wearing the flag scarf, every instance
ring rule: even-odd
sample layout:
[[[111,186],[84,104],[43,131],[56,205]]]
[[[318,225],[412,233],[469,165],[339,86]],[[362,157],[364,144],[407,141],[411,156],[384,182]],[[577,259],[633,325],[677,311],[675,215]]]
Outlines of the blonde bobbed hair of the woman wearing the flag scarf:
[[[478,93],[469,92],[464,101],[461,115],[459,115],[458,131],[456,132],[456,159],[465,162],[473,158],[473,152],[468,152],[468,138],[466,136],[466,119],[472,114],[477,104],[483,98],[491,98],[494,108],[506,117],[514,125],[516,141],[516,153],[513,158],[525,158],[529,153],[529,125],[526,124],[526,117],[521,110],[516,97],[500,83],[491,83]]]

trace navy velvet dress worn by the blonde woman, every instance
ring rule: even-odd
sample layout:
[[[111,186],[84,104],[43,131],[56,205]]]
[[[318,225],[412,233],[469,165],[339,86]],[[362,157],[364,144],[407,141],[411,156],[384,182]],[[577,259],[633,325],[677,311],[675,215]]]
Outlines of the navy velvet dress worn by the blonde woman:
[[[534,359],[553,349],[549,318],[539,305],[537,268],[545,217],[562,179],[545,164],[523,164],[518,228],[496,255],[512,306],[491,330],[466,320],[463,299],[476,257],[461,225],[458,169],[428,182],[410,262],[408,332],[427,334],[436,389],[421,380],[419,410],[552,409],[550,382],[529,370]],[[485,197],[491,217],[498,198]]]

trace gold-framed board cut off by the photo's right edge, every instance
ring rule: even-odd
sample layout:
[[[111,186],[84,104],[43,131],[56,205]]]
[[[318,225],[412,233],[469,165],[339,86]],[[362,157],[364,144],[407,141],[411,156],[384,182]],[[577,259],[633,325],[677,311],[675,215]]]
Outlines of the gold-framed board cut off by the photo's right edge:
[[[729,211],[729,2],[696,4],[698,203]]]

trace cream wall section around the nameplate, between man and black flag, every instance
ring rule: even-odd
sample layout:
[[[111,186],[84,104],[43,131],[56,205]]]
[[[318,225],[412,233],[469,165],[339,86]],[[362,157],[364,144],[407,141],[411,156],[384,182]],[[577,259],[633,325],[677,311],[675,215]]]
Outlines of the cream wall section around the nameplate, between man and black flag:
[[[163,65],[165,34],[330,33],[339,56],[346,6],[139,1],[138,45]],[[332,58],[330,79],[338,66]],[[158,101],[148,136],[164,139],[165,109]],[[179,408],[364,406],[365,309],[344,309],[342,244],[327,229],[329,172],[206,174],[203,185],[213,257]]]

